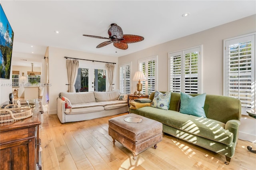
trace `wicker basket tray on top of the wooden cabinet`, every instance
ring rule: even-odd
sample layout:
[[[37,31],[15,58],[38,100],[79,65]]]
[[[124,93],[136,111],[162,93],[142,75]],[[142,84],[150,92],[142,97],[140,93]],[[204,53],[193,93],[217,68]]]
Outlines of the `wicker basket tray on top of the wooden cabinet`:
[[[31,108],[19,108],[16,104],[6,105],[4,109],[0,109],[0,123],[20,121],[32,115]]]

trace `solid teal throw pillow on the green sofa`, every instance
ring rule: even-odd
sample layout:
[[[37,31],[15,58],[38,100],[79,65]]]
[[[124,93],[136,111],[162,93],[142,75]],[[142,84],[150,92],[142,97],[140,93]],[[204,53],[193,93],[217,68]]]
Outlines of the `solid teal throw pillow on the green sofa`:
[[[205,98],[206,93],[193,97],[181,92],[180,113],[206,118],[206,115],[204,113]]]

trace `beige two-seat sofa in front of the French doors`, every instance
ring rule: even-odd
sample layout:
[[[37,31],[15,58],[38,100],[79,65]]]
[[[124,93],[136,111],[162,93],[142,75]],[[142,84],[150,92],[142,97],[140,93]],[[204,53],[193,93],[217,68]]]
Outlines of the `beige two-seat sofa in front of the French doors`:
[[[72,104],[72,108],[65,109],[66,97]],[[107,92],[62,92],[57,98],[57,114],[61,123],[84,121],[117,115],[128,111],[127,99],[120,95],[119,90]]]

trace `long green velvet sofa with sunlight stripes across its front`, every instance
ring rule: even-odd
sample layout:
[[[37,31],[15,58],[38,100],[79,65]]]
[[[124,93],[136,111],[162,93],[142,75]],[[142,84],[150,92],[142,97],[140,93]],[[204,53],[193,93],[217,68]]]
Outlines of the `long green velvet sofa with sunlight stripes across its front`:
[[[149,99],[154,99],[154,93]],[[174,92],[171,93],[169,110],[142,107],[136,110],[129,108],[128,111],[161,122],[163,133],[225,155],[225,164],[229,164],[234,155],[241,118],[239,99],[206,95],[204,111],[207,118],[180,113],[180,93]]]

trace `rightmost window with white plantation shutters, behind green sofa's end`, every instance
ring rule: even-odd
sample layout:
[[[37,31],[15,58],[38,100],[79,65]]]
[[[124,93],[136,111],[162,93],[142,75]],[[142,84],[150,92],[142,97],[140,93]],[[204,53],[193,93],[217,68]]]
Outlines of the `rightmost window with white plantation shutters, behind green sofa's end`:
[[[255,108],[255,33],[223,41],[223,93]]]

